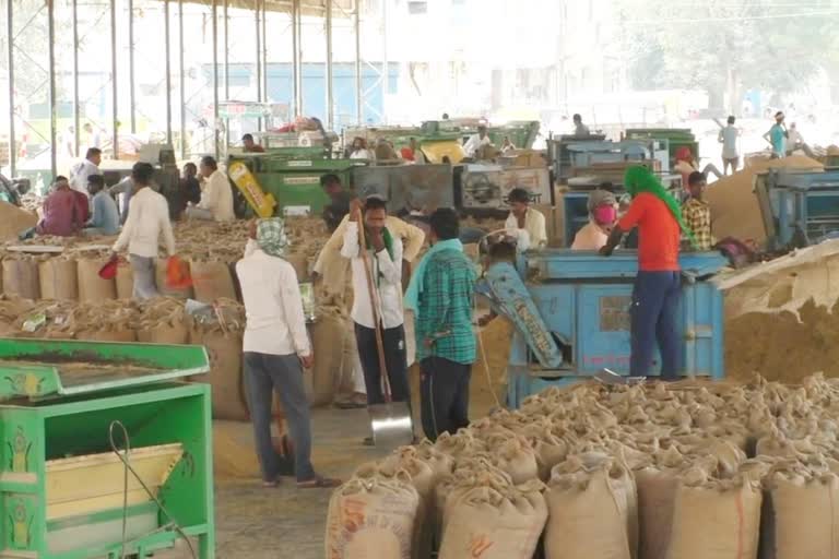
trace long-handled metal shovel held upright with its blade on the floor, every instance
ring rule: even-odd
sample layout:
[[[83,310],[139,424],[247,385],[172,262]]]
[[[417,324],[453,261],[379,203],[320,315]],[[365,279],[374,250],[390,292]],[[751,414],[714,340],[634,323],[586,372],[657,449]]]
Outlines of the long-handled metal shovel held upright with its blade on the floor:
[[[359,214],[361,212],[358,212]],[[367,242],[364,236],[364,219],[362,215],[356,214],[358,223],[358,248],[364,262],[364,271],[367,275],[367,288],[370,295],[370,307],[373,310],[373,321],[376,325],[376,349],[379,358],[379,370],[381,371],[382,393],[385,395],[383,404],[373,404],[367,406],[370,414],[370,428],[373,430],[373,442],[376,447],[398,448],[411,444],[414,440],[414,421],[411,416],[409,402],[393,402],[390,393],[390,381],[388,380],[388,366],[385,359],[385,343],[381,337],[381,323],[377,301],[377,290],[374,287],[373,269],[367,254]]]

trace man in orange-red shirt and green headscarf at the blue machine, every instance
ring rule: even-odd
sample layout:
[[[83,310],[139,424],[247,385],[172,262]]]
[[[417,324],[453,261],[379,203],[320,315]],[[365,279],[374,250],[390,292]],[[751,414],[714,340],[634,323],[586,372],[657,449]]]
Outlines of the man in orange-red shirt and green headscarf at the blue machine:
[[[624,234],[638,227],[638,275],[631,307],[631,355],[629,374],[646,377],[653,361],[655,343],[661,353],[661,378],[678,378],[682,348],[676,313],[682,295],[678,246],[682,222],[678,203],[646,167],[630,167],[624,186],[633,203],[617,222],[601,254],[610,255]]]

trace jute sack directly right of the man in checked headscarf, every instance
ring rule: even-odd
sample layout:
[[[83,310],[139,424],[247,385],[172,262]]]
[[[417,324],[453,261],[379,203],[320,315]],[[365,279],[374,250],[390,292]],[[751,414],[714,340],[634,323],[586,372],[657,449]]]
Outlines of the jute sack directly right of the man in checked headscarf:
[[[320,316],[309,324],[315,364],[311,368],[312,406],[331,404],[344,367],[345,321],[333,316]]]

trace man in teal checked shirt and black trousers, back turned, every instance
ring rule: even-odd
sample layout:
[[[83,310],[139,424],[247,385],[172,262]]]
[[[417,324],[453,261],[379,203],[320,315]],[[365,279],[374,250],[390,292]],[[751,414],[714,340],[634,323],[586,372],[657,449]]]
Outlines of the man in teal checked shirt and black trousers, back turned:
[[[423,430],[434,441],[469,425],[477,344],[472,331],[475,270],[458,238],[458,214],[441,207],[432,214],[430,226],[432,248],[411,277],[405,308],[416,313]]]

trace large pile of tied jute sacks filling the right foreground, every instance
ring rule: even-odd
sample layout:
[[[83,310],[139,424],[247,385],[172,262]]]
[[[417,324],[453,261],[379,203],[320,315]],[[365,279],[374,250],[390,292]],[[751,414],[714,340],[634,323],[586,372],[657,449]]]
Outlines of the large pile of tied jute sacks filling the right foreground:
[[[837,417],[822,376],[548,389],[359,467],[326,557],[839,559]]]

